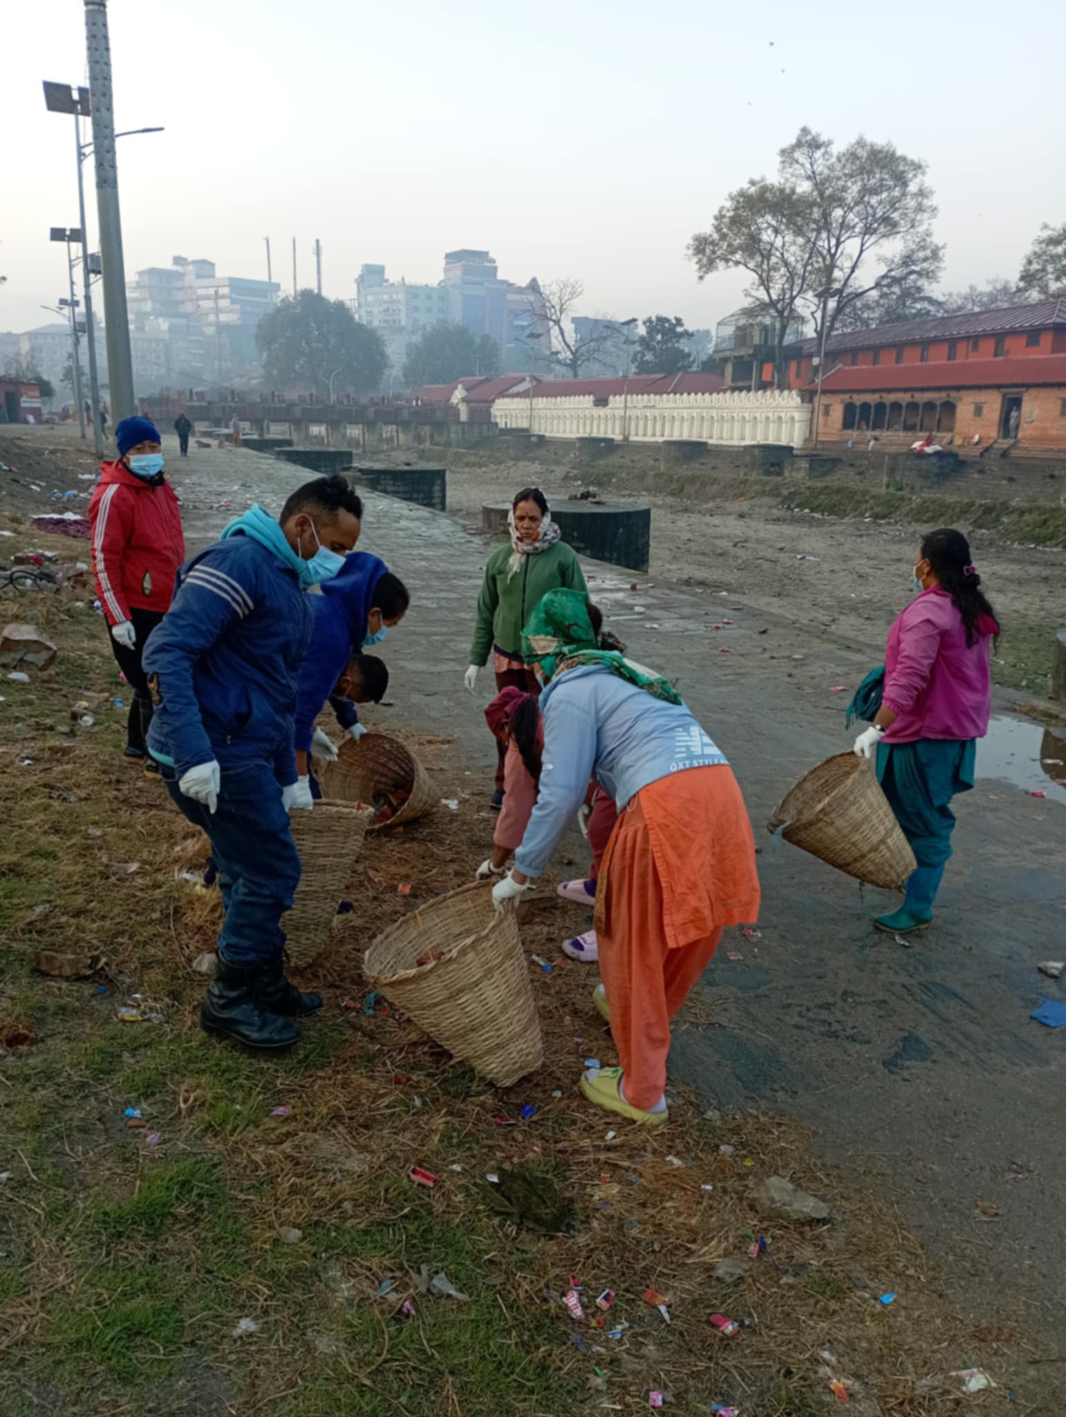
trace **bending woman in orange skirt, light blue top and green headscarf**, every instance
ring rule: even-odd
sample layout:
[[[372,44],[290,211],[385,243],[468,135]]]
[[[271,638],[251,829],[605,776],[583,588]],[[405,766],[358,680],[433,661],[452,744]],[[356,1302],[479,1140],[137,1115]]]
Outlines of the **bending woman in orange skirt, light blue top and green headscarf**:
[[[588,598],[551,591],[527,622],[537,662],[544,760],[515,866],[497,910],[532,890],[585,801],[589,778],[619,822],[596,891],[596,932],[620,1068],[580,1081],[585,1097],[633,1121],[667,1119],[670,1020],[709,964],[725,925],[759,918],[755,845],[726,760],[670,684],[595,648]]]

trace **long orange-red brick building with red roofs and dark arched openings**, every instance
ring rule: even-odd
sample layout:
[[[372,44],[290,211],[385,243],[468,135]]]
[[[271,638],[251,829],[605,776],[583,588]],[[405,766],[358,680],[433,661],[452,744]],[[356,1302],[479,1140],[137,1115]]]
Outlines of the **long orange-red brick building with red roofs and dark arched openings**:
[[[796,350],[789,384],[813,394],[820,441],[1066,448],[1066,299],[831,334],[820,411],[817,354]]]

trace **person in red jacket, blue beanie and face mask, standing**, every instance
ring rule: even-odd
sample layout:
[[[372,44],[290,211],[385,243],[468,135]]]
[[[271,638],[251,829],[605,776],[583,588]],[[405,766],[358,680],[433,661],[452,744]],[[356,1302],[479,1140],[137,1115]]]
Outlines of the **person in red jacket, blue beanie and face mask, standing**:
[[[125,757],[144,760],[147,768],[151,760],[144,735],[151,723],[151,694],[140,659],[170,606],[185,541],[178,500],[163,476],[156,425],[149,418],[123,418],[115,442],[118,462],[102,465],[89,502],[92,570],[110,626],[110,646],[133,690]]]

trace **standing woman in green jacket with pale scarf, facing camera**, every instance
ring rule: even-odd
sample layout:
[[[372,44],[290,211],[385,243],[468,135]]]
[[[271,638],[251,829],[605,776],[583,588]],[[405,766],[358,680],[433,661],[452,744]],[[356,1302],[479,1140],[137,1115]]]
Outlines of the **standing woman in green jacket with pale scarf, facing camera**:
[[[477,598],[477,623],[464,683],[470,693],[477,672],[493,653],[495,691],[512,686],[537,694],[532,669],[522,657],[522,625],[548,591],[585,591],[585,575],[576,553],[559,540],[559,529],[539,487],[522,487],[507,513],[510,546],[493,551]],[[493,806],[504,802],[504,760],[507,750],[497,741],[495,792]]]

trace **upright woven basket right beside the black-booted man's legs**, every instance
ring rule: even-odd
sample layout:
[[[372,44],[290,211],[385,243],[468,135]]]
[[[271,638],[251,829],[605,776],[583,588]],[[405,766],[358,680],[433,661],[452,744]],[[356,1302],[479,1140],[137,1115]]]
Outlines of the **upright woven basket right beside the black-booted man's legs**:
[[[300,884],[282,917],[285,948],[297,969],[314,964],[330,939],[337,907],[374,815],[351,802],[316,802],[293,812],[289,825],[300,853]]]

